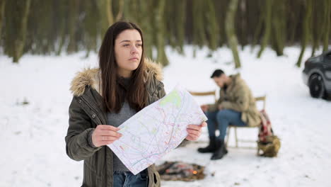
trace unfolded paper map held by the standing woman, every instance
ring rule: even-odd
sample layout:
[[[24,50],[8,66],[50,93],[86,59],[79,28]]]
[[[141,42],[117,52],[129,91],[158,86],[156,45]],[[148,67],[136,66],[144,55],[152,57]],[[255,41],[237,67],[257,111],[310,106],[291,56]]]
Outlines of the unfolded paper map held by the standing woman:
[[[187,125],[207,117],[180,86],[120,125],[122,137],[108,145],[134,175],[175,149],[187,137]]]

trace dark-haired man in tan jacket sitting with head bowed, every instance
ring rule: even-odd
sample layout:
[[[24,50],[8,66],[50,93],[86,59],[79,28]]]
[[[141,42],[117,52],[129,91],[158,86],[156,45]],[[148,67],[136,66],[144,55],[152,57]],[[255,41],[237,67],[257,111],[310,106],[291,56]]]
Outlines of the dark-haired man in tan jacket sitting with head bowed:
[[[209,145],[199,148],[198,152],[212,152],[211,159],[221,159],[228,153],[224,145],[228,125],[260,125],[260,114],[255,106],[255,98],[240,74],[226,76],[221,69],[216,69],[211,79],[220,87],[219,101],[201,106],[208,118]],[[218,137],[215,135],[217,126]]]

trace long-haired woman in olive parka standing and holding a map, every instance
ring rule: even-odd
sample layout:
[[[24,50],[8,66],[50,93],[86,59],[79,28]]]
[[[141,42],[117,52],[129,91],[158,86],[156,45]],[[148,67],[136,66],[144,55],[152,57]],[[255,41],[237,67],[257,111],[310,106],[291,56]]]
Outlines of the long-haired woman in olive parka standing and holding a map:
[[[134,23],[108,28],[99,66],[80,72],[71,83],[66,153],[84,160],[83,186],[160,186],[154,165],[133,175],[105,146],[120,139],[117,127],[125,120],[165,96],[161,68],[144,59],[143,35]],[[186,139],[197,140],[206,125],[188,125]]]

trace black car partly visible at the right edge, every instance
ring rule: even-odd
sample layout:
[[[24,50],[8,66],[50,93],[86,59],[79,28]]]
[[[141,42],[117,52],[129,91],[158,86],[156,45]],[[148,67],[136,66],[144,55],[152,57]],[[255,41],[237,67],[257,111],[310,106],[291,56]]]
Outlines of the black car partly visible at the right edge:
[[[305,62],[303,81],[313,98],[327,98],[331,94],[331,50]]]

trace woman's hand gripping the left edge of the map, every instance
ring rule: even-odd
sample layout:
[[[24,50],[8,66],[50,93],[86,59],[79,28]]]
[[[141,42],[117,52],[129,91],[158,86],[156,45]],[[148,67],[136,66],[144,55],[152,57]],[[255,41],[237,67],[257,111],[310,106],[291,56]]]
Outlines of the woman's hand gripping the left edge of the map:
[[[122,134],[117,132],[120,128],[111,125],[98,125],[92,133],[92,142],[95,147],[110,145],[120,139]]]

